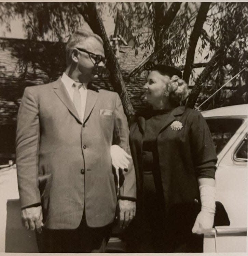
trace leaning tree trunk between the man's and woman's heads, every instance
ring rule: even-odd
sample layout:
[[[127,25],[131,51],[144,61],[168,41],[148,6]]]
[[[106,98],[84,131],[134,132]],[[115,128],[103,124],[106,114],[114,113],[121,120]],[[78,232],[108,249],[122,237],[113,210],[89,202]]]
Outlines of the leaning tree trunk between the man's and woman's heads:
[[[91,27],[92,31],[99,35],[104,41],[104,51],[107,58],[106,65],[109,69],[109,80],[114,88],[114,91],[120,95],[124,112],[129,120],[135,114],[134,108],[125,87],[120,65],[110,45],[104,24],[97,13],[96,4],[95,2],[87,2],[85,3],[84,9],[78,8],[78,11],[84,17],[84,20]]]

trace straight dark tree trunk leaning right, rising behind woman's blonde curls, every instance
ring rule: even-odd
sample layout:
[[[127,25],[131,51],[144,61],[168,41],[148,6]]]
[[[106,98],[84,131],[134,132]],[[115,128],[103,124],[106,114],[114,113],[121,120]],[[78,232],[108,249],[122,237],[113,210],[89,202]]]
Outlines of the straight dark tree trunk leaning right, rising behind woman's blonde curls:
[[[206,21],[209,6],[210,6],[210,2],[201,3],[201,6],[199,8],[196,21],[194,24],[193,31],[190,35],[189,48],[187,51],[186,62],[185,62],[185,67],[183,71],[183,80],[187,82],[187,84],[189,83],[190,75],[192,71],[192,64],[194,63],[196,44],[199,39],[199,36],[202,33],[203,24]]]

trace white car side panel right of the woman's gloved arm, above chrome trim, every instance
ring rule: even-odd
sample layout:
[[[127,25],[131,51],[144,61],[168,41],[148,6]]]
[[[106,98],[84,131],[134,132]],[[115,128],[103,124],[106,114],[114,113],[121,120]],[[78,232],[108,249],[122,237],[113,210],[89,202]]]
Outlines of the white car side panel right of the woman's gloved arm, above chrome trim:
[[[247,145],[247,123],[236,132],[216,172],[216,200],[222,202],[230,219],[230,227],[246,227],[247,153],[237,158],[240,146]],[[232,144],[233,143],[233,144]],[[246,149],[247,152],[247,149]]]

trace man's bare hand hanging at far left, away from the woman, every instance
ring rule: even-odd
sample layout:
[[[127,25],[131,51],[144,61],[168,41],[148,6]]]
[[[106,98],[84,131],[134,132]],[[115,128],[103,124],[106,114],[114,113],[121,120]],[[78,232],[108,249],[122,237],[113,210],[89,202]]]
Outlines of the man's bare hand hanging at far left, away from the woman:
[[[38,233],[41,233],[42,227],[44,226],[41,206],[23,209],[21,216],[24,227],[30,230],[36,229]]]

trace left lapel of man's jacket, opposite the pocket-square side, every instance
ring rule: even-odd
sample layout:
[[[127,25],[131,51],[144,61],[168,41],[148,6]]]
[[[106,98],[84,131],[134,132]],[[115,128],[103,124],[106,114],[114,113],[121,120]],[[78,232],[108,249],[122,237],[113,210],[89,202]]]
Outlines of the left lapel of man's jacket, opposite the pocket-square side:
[[[79,123],[82,124],[82,121],[79,118],[78,112],[71,101],[71,98],[66,90],[65,85],[59,78],[55,83],[54,83],[54,92],[58,95],[59,99],[66,105],[68,108],[69,112],[77,119]]]

